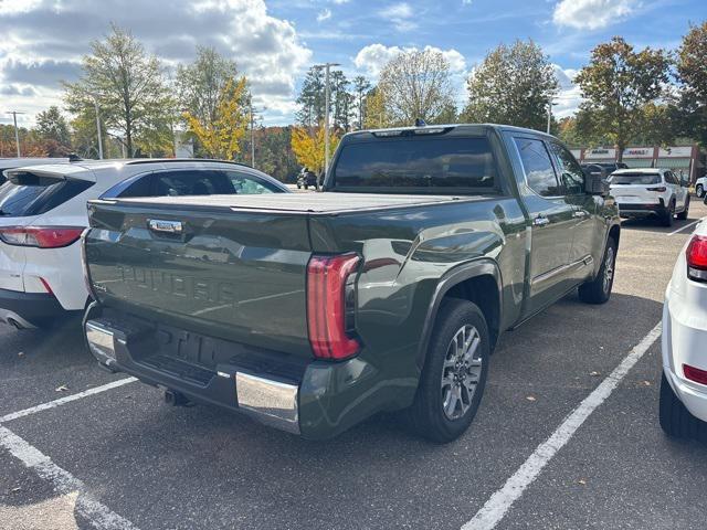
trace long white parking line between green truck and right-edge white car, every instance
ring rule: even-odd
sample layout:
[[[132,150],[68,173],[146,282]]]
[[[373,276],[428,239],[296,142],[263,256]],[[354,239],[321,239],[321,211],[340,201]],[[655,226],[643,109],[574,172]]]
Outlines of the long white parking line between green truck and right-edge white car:
[[[564,418],[550,437],[535,449],[532,455],[506,480],[504,487],[490,496],[474,518],[462,527],[462,530],[490,530],[498,524],[513,504],[520,498],[525,489],[540,475],[557,452],[570,441],[574,432],[584,423],[584,420],[611,395],[633,365],[661,337],[661,322],[658,322],[631,350],[621,364]]]

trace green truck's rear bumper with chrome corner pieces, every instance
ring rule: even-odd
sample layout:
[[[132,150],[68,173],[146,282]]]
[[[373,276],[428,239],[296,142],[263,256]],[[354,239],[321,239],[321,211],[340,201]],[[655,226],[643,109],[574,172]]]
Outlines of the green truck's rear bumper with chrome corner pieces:
[[[407,406],[414,396],[416,381],[408,381],[403,389],[400,381],[387,384],[380,371],[360,356],[336,363],[304,359],[287,377],[285,361],[254,361],[241,346],[230,343],[224,349],[239,349],[239,354],[217,354],[213,365],[197,365],[159,354],[155,328],[145,332],[125,322],[103,318],[97,305],[89,307],[84,330],[99,363],[308,439],[333,437],[376,412]]]

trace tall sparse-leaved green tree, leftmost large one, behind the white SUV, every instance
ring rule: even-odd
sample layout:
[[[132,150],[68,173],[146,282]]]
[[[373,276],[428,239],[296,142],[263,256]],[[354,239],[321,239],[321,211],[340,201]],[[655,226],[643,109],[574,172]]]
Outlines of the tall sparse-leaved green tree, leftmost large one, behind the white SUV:
[[[73,114],[98,103],[109,129],[120,132],[128,157],[136,152],[136,139],[152,142],[157,121],[169,121],[171,104],[158,59],[145,52],[129,31],[112,25],[103,41],[91,43],[92,53],[82,61],[83,75],[65,83],[65,100]],[[167,131],[162,129],[162,134]],[[160,137],[159,145],[166,140]]]

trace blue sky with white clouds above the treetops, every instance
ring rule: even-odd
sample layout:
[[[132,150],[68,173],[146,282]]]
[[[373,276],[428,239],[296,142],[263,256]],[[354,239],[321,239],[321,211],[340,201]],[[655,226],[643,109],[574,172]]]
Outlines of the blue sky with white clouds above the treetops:
[[[109,24],[128,29],[167,72],[198,44],[233,59],[249,77],[264,125],[293,123],[307,68],[336,62],[349,78],[372,82],[405,49],[447,59],[460,108],[465,80],[488,51],[532,39],[555,65],[561,92],[553,112],[581,100],[572,77],[591,50],[613,35],[636,47],[676,49],[689,24],[707,19],[707,0],[0,0],[0,113],[23,126],[62,107],[62,81]],[[0,123],[12,117],[0,114]]]

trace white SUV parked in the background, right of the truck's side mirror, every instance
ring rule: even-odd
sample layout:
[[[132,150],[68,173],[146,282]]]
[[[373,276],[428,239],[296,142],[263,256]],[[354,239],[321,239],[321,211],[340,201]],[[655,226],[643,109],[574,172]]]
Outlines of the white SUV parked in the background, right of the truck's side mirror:
[[[665,226],[687,219],[689,190],[669,169],[620,169],[609,179],[622,218],[658,216]]]

